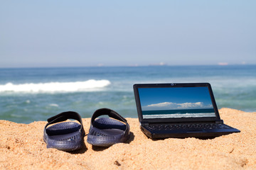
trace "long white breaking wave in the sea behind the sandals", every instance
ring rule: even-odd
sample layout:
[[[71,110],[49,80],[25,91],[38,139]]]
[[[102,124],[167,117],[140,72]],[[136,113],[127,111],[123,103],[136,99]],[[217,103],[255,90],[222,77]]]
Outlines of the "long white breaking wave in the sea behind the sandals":
[[[46,93],[46,92],[75,92],[94,91],[110,85],[109,80],[74,81],[74,82],[49,82],[38,84],[4,84],[0,85],[1,92]]]

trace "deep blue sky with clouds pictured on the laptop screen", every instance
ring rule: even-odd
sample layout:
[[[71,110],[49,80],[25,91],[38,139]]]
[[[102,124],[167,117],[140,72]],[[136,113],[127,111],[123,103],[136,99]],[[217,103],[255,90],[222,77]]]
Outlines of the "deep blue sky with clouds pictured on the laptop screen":
[[[142,111],[213,108],[207,87],[140,88]]]

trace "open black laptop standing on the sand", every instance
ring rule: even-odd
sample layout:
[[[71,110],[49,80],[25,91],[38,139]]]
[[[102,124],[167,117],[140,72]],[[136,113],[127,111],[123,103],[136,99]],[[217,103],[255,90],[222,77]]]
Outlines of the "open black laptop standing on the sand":
[[[151,138],[218,137],[240,130],[223,123],[208,83],[134,84],[140,128]]]

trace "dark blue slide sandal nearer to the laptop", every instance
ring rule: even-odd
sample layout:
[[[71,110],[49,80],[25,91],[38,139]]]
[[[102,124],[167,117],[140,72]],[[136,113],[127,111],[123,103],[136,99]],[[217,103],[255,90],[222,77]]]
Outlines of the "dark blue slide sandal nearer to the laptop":
[[[110,118],[97,118],[100,115],[108,115]],[[109,108],[100,108],[95,111],[87,135],[88,143],[100,147],[110,147],[128,139],[129,124],[125,118]]]

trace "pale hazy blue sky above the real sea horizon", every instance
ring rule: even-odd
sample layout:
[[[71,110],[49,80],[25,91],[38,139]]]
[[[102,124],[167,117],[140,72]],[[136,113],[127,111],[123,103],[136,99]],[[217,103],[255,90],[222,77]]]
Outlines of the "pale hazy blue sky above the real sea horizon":
[[[0,67],[256,64],[256,1],[1,1]]]

